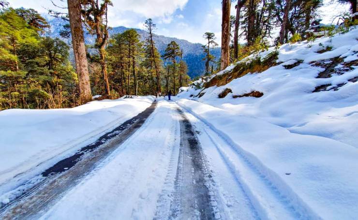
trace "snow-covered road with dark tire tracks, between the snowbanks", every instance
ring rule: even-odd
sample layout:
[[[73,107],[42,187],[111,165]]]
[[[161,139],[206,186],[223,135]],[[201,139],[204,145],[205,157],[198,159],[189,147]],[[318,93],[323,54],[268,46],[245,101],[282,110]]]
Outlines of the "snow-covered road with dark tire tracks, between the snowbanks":
[[[158,99],[2,207],[2,219],[307,219],[237,148]]]

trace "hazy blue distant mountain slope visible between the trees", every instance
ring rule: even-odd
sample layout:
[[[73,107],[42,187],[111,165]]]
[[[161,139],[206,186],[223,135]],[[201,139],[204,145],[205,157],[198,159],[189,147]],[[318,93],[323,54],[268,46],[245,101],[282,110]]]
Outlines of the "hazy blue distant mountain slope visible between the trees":
[[[51,30],[48,33],[51,37],[59,37],[60,36],[60,30],[63,29],[62,26],[66,24],[65,21],[58,19],[58,18],[50,18],[48,16],[45,16],[48,18],[48,22],[51,25]],[[110,35],[122,33],[125,31],[126,27],[119,26],[111,29],[109,31]],[[146,36],[146,31],[142,29],[135,29],[141,36],[142,40],[144,40]],[[63,41],[67,42],[68,44],[71,43],[71,39],[63,39]],[[95,40],[95,37],[86,33],[85,34],[85,41],[86,44],[93,44]],[[203,50],[202,50],[202,44],[194,44],[186,40],[174,38],[174,37],[165,37],[162,35],[156,35],[154,37],[155,44],[161,54],[164,54],[164,50],[166,48],[166,45],[169,44],[171,41],[175,41],[179,44],[180,48],[183,49],[183,60],[188,64],[188,70],[189,70],[189,76],[195,77],[202,75],[205,73],[205,62],[203,61]],[[212,49],[212,55],[214,55],[217,59],[220,58],[220,48],[214,48]]]

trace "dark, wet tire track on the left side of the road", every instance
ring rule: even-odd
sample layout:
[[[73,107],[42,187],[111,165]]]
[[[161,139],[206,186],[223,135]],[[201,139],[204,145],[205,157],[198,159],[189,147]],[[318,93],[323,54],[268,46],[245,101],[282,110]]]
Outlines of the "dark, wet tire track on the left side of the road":
[[[34,218],[40,211],[52,205],[93,170],[98,162],[134,134],[152,114],[156,105],[157,102],[154,101],[146,110],[104,134],[96,142],[48,168],[42,173],[40,181],[22,191],[9,204],[0,207],[0,219]]]

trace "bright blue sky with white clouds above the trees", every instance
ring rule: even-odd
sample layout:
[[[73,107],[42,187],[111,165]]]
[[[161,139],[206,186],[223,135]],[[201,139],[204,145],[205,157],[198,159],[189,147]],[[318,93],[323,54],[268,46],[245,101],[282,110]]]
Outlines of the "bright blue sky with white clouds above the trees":
[[[321,15],[324,23],[330,23],[333,14],[348,9],[348,5],[330,4],[324,0]],[[46,13],[46,8],[56,9],[50,0],[9,0],[10,5],[33,8]],[[56,4],[66,6],[61,0]],[[112,0],[109,8],[109,25],[128,28],[143,28],[144,21],[151,17],[157,24],[156,33],[177,37],[193,43],[205,43],[202,35],[214,32],[217,42],[221,41],[221,0]],[[232,15],[235,15],[232,3]]]

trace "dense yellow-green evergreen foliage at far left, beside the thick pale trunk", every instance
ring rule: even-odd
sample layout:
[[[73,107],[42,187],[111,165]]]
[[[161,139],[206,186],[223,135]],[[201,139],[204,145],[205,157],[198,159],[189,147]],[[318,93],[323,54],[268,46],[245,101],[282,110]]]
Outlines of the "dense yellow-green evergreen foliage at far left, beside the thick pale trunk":
[[[42,38],[10,8],[0,13],[0,50],[0,109],[76,104],[69,47],[60,39]]]

